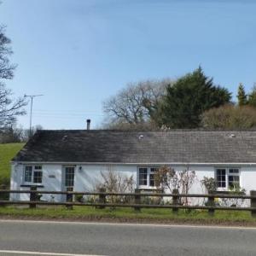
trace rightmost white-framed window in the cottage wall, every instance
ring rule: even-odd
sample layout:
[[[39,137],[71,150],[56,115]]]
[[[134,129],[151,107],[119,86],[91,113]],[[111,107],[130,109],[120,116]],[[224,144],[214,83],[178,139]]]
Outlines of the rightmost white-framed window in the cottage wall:
[[[216,180],[218,188],[240,188],[240,171],[238,168],[218,168],[216,169]]]

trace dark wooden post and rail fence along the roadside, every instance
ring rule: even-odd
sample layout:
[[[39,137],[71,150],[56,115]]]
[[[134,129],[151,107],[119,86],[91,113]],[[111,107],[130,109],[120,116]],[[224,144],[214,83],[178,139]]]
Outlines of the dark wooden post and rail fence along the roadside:
[[[256,190],[251,190],[250,195],[229,195],[229,194],[218,194],[218,192],[210,192],[209,194],[178,194],[177,189],[173,189],[172,194],[167,193],[144,193],[140,189],[135,189],[135,193],[108,193],[105,189],[100,189],[99,192],[77,192],[70,189],[68,191],[42,191],[37,190],[37,187],[31,187],[30,190],[8,190],[0,189],[0,198],[1,195],[10,195],[10,194],[29,194],[29,201],[9,201],[9,200],[0,200],[0,206],[6,205],[29,205],[30,208],[35,208],[40,205],[44,206],[66,206],[68,209],[73,209],[73,206],[86,206],[86,207],[133,207],[136,211],[140,211],[141,208],[168,208],[172,209],[172,212],[177,213],[179,209],[195,209],[195,210],[207,210],[210,215],[213,215],[216,210],[223,211],[249,211],[252,213],[252,216],[256,218]],[[40,197],[44,194],[48,195],[66,195],[66,201],[40,201]],[[74,195],[93,195],[98,198],[97,201],[89,202],[79,202],[73,201]],[[117,202],[113,203],[110,200],[108,202],[108,197],[133,197],[134,200],[128,203]],[[145,204],[143,203],[143,197],[171,197],[172,204]],[[185,205],[181,204],[180,201],[182,198],[207,198],[207,205]],[[249,207],[222,207],[215,204],[215,199],[241,199],[249,200]]]

